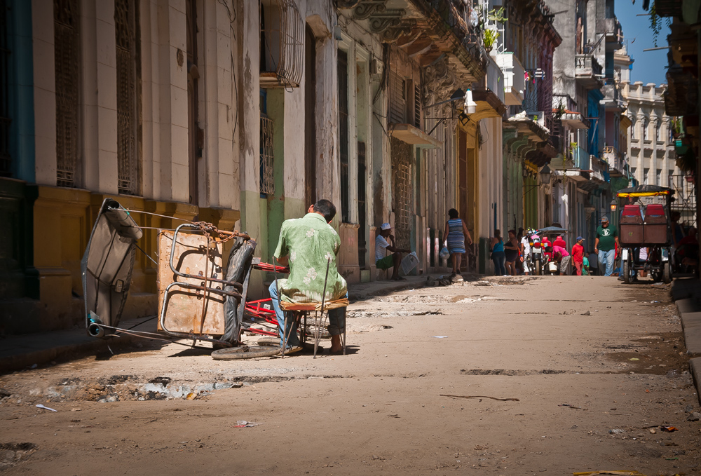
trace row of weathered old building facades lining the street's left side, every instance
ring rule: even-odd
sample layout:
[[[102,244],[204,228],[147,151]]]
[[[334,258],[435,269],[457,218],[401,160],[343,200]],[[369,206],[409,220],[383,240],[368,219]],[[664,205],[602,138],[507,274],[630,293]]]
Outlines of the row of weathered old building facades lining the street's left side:
[[[81,320],[106,197],[144,227],[126,318],[155,313],[156,233],[182,219],[246,231],[271,261],[283,221],[328,198],[349,283],[386,278],[383,222],[412,273],[444,271],[450,208],[465,271],[493,272],[495,229],[590,238],[641,132],[627,142],[613,1],[555,3],[3,0],[4,329]]]

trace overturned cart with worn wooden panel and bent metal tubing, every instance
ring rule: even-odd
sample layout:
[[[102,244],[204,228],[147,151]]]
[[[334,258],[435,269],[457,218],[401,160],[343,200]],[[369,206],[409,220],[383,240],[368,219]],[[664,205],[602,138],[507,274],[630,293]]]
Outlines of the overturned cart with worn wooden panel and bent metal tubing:
[[[256,242],[245,233],[210,223],[187,222],[156,229],[158,331],[119,326],[144,229],[116,200],[104,200],[81,261],[86,328],[107,339],[120,333],[147,339],[209,341],[215,348],[240,344],[245,301]],[[172,217],[165,217],[172,219]],[[233,240],[224,261],[224,243]],[[142,251],[142,250],[141,250]],[[145,252],[144,252],[145,253]],[[165,339],[164,339],[165,337]]]

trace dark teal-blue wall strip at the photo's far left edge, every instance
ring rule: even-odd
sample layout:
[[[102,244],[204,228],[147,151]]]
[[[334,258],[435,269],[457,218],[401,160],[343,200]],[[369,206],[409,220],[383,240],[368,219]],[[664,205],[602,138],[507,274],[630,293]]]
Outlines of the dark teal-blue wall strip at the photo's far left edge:
[[[10,154],[15,179],[34,182],[34,68],[32,2],[6,0]]]

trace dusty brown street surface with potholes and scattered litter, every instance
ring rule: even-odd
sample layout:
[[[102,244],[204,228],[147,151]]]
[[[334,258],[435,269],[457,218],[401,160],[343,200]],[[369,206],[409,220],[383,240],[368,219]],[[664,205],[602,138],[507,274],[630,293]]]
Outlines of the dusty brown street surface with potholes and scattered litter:
[[[669,286],[490,278],[348,314],[345,356],[222,362],[144,341],[2,376],[0,471],[698,474]]]

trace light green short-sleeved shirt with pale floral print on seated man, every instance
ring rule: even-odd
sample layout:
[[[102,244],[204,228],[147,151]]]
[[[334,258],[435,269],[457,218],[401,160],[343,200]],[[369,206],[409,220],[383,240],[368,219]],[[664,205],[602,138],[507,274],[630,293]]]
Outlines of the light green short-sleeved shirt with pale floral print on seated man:
[[[346,280],[336,268],[336,257],[341,238],[336,230],[318,213],[307,213],[302,218],[285,220],[275,258],[290,258],[290,276],[279,279],[280,298],[288,302],[321,302],[324,278],[329,258],[329,280],[326,299],[346,296]]]

